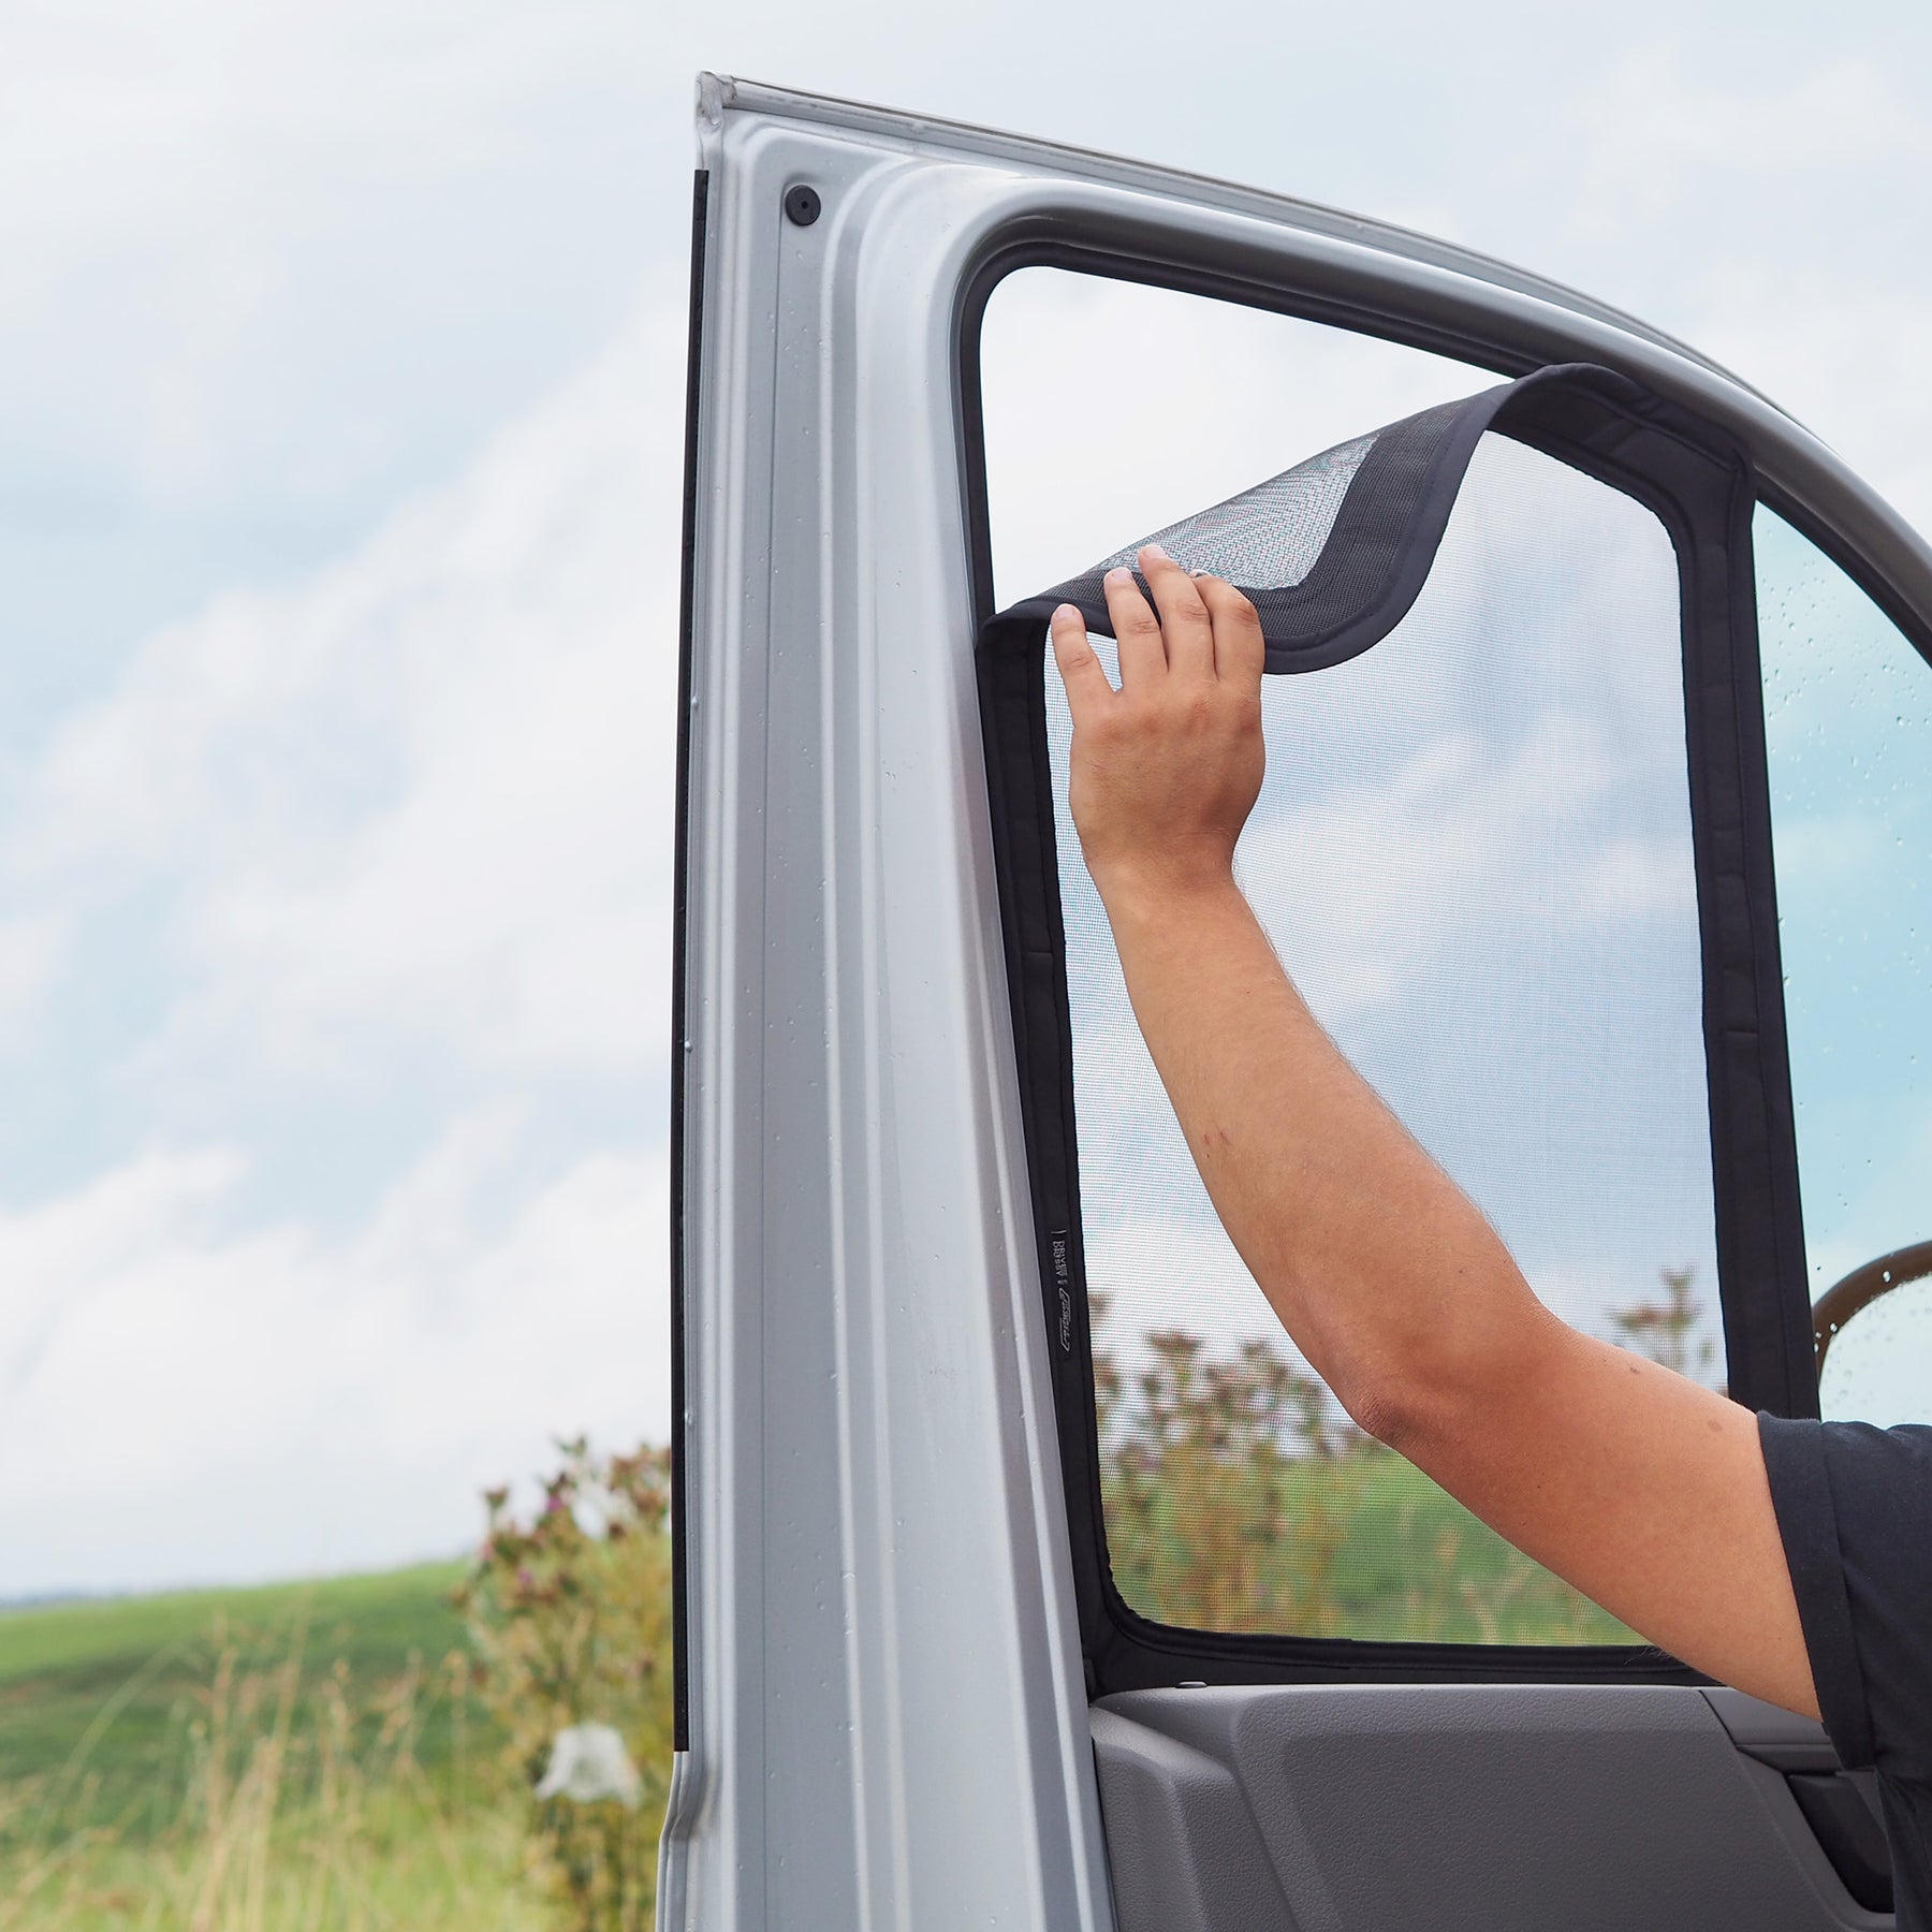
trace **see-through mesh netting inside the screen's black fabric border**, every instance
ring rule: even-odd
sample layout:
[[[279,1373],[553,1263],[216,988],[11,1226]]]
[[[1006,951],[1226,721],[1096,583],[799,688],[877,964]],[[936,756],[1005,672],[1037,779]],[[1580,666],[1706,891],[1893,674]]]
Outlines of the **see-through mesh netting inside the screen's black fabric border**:
[[[1244,587],[1312,583],[1370,440],[1167,547]],[[1080,864],[1070,726],[1041,663],[1117,1590],[1204,1631],[1631,1642],[1360,1437],[1221,1233]],[[1663,526],[1482,435],[1408,614],[1360,655],[1269,676],[1264,707],[1238,875],[1316,1014],[1557,1314],[1721,1385]]]

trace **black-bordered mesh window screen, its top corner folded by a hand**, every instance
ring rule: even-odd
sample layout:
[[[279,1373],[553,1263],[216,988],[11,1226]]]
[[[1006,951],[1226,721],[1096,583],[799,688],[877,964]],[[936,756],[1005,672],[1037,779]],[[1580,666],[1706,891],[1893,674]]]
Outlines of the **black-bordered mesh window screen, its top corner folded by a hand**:
[[[1236,866],[1318,1016],[1565,1320],[1791,1412],[1797,1177],[1735,701],[1750,489],[1723,437],[1565,365],[1157,535],[1262,614],[1269,767]],[[1671,1671],[1364,1441],[1213,1215],[1065,808],[1045,622],[1076,603],[1109,661],[1101,576],[1134,549],[980,638],[1095,1683]],[[1536,1662],[1474,1662],[1513,1644]]]

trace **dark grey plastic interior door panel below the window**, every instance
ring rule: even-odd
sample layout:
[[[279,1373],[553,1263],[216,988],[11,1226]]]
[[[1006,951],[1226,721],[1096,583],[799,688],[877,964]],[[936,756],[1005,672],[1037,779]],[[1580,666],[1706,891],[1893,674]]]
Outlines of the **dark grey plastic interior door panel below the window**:
[[[1824,1731],[1677,1685],[1132,1690],[1094,1708],[1121,1932],[1822,1932]]]

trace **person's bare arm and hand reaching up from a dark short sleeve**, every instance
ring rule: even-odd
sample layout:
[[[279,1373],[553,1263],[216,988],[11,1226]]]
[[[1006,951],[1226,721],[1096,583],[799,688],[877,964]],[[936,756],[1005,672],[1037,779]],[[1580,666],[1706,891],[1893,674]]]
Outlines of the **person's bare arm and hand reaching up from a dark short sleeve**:
[[[1235,885],[1262,636],[1150,549],[1053,643],[1072,813],[1153,1063],[1229,1236],[1343,1406],[1513,1544],[1712,1677],[1816,1714],[1756,1418],[1565,1327],[1294,991]],[[1474,1070],[1472,1070],[1474,1072]]]

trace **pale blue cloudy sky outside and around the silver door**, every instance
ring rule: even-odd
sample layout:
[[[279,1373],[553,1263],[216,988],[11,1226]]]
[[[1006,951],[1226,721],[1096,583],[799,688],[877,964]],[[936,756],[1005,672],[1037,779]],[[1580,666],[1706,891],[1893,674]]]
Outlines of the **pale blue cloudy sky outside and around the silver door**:
[[[1528,4],[1206,0],[1184,27],[6,10],[0,1598],[456,1551],[554,1435],[668,1430],[699,68],[1519,261],[1729,363],[1932,524],[1922,10],[1634,0],[1605,39]],[[1107,439],[1130,456],[1211,375],[1121,338],[1088,367],[1121,404],[1084,487],[1034,448],[1005,491],[1041,568],[1385,419],[1285,392],[1148,475]],[[1043,415],[1049,373],[1022,344],[1003,381]]]

